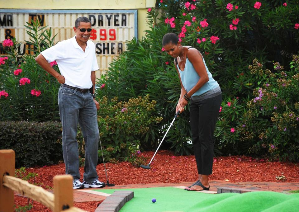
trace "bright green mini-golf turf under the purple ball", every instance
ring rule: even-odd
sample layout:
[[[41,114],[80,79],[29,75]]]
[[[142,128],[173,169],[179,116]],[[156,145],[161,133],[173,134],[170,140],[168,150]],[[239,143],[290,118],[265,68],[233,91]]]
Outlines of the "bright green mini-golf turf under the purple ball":
[[[94,190],[108,194],[114,191],[134,191],[134,198],[120,212],[185,211],[185,212],[292,212],[299,211],[299,194],[287,195],[270,191],[244,194],[204,194],[173,187],[103,189]],[[152,203],[152,199],[157,201]]]

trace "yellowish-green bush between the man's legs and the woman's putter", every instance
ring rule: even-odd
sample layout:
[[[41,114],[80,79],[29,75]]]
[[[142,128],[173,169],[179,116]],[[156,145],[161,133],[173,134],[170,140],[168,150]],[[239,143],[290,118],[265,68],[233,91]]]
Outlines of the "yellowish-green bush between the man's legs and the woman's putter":
[[[140,165],[140,144],[150,136],[152,128],[162,118],[154,115],[155,101],[144,98],[131,98],[127,102],[118,101],[117,97],[99,100],[98,126],[105,161],[130,161]],[[99,160],[102,153],[99,151]],[[139,163],[139,164],[138,164]]]

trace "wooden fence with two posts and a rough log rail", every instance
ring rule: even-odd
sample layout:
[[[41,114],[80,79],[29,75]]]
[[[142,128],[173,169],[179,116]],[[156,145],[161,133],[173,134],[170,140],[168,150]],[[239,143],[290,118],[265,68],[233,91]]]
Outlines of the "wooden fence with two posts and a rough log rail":
[[[54,212],[84,212],[73,207],[73,177],[58,175],[53,178],[54,194],[15,176],[15,152],[0,150],[0,211],[14,211],[14,191],[42,203]]]

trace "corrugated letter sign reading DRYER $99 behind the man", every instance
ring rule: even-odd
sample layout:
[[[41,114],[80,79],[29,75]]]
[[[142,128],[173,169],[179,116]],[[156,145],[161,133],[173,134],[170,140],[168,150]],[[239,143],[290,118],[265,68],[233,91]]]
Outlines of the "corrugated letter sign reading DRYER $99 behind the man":
[[[117,57],[121,50],[125,50],[126,40],[137,36],[137,12],[135,10],[109,10],[109,11],[84,11],[84,13],[59,10],[34,10],[32,12],[11,12],[11,10],[0,10],[0,42],[16,37],[24,43],[21,53],[24,52],[25,40],[29,40],[28,30],[24,25],[31,19],[39,19],[42,26],[51,27],[55,37],[55,43],[66,40],[75,35],[73,27],[75,20],[80,16],[86,16],[92,21],[93,31],[90,40],[96,45],[96,55],[100,73],[104,73]],[[110,18],[110,19],[109,19]],[[118,26],[119,25],[119,26]],[[1,45],[2,46],[2,45]],[[108,48],[109,47],[109,48]],[[26,51],[28,54],[28,52]]]

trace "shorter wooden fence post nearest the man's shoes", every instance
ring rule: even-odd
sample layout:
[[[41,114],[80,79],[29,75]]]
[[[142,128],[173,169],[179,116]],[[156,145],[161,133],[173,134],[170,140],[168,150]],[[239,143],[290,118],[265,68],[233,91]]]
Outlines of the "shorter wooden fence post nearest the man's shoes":
[[[73,207],[73,177],[71,175],[57,175],[53,178],[54,212]]]

